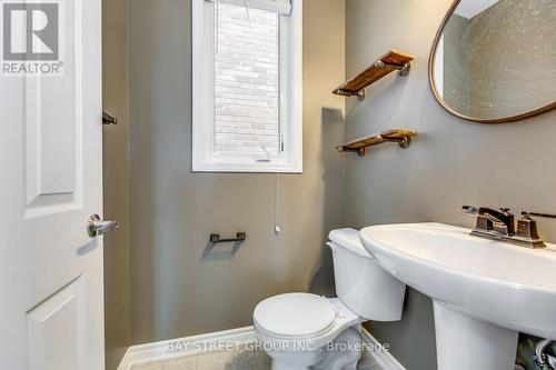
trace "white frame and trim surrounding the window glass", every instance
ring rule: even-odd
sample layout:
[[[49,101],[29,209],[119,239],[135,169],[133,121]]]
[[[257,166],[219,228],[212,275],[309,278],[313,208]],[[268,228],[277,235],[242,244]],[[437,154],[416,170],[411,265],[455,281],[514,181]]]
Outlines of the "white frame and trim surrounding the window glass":
[[[218,154],[215,148],[214,2],[192,0],[192,171],[302,172],[302,0],[280,17],[279,124],[284,151],[271,158]],[[267,161],[266,161],[267,160]]]

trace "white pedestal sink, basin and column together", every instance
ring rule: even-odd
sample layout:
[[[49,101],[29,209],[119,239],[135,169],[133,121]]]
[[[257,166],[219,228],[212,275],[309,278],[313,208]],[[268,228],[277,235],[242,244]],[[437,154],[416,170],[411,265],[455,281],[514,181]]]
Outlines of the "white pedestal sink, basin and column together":
[[[363,243],[434,301],[439,370],[513,370],[519,332],[556,340],[556,246],[526,249],[441,223],[374,226]]]

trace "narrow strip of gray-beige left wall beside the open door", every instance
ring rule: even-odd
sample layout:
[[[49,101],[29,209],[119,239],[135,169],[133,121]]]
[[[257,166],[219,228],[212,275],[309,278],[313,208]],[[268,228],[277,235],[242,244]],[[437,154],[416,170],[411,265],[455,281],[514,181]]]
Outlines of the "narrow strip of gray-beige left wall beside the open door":
[[[130,342],[127,0],[102,1],[102,104],[118,118],[102,134],[105,218],[120,222],[105,238],[106,369],[113,370]]]

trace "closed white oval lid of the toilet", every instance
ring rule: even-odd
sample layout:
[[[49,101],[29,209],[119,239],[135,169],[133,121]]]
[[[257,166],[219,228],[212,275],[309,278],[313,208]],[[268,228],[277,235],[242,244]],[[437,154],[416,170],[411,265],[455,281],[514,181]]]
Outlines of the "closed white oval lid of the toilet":
[[[336,317],[332,304],[309,293],[288,293],[264,300],[255,308],[255,322],[280,337],[306,337],[328,329]]]

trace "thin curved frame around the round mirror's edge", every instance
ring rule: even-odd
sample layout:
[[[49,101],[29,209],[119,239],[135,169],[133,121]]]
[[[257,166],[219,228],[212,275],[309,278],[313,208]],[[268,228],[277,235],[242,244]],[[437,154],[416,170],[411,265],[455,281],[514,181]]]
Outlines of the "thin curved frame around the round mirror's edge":
[[[446,13],[446,16],[444,17],[443,22],[440,23],[440,28],[436,32],[435,41],[433,43],[433,48],[430,49],[430,54],[428,57],[428,81],[429,81],[429,84],[430,84],[430,89],[433,90],[433,94],[436,98],[436,101],[438,101],[438,103],[444,109],[446,109],[450,114],[453,114],[453,116],[455,116],[457,118],[460,118],[460,119],[464,119],[464,120],[470,121],[470,122],[487,123],[487,124],[516,122],[516,121],[520,121],[520,120],[524,120],[526,118],[530,118],[530,117],[535,117],[535,116],[538,116],[538,114],[543,114],[543,113],[546,113],[546,112],[548,112],[550,110],[556,109],[556,101],[555,101],[555,102],[553,102],[553,103],[550,103],[548,106],[545,106],[545,107],[542,107],[542,108],[537,108],[537,109],[532,110],[529,112],[517,114],[517,116],[504,117],[504,118],[496,118],[496,119],[478,119],[478,118],[473,118],[473,117],[468,117],[468,116],[464,116],[461,113],[458,113],[457,111],[455,111],[454,109],[451,109],[443,100],[443,98],[438,93],[438,89],[436,87],[436,82],[435,82],[435,78],[434,78],[434,73],[433,73],[433,69],[434,69],[435,60],[436,60],[436,49],[438,48],[438,41],[440,40],[440,37],[443,34],[444,28],[446,27],[446,23],[448,22],[449,18],[451,17],[451,14],[454,13],[454,11],[456,10],[457,6],[459,6],[460,2],[461,2],[461,0],[455,0],[454,3],[451,4],[451,7],[448,9],[448,12]]]

